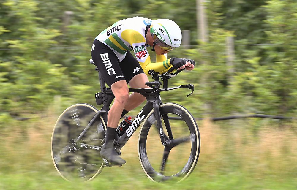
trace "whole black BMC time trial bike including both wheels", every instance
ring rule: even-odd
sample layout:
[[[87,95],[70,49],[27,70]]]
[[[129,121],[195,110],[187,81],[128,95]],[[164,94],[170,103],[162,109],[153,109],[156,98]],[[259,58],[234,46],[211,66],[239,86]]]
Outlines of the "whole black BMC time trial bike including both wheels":
[[[94,64],[92,60],[90,63]],[[151,70],[149,74],[154,81],[146,83],[150,88],[129,88],[129,92],[145,96],[147,102],[124,134],[120,137],[116,134],[114,140],[116,151],[121,155],[121,148],[140,128],[140,165],[147,177],[156,182],[187,178],[194,170],[200,152],[200,134],[193,115],[182,105],[161,101],[160,92],[178,88],[189,88],[191,94],[194,92],[192,84],[168,88],[168,79],[181,71],[173,74],[173,70],[170,68],[164,74]],[[114,95],[110,88],[106,88],[100,73],[99,80],[101,92],[95,94],[95,98],[97,105],[103,104],[101,110],[85,103],[72,105],[59,116],[53,129],[53,164],[67,181],[89,181],[104,167],[113,166],[100,157],[100,150],[105,142],[107,114]]]

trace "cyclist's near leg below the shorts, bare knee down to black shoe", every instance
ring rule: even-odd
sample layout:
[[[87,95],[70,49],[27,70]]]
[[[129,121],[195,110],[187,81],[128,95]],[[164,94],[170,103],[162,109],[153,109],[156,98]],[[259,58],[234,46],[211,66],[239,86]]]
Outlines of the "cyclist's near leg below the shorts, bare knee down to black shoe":
[[[101,148],[100,155],[108,159],[111,163],[125,164],[126,161],[120,158],[114,150],[113,140],[121,117],[121,111],[124,109],[124,105],[129,99],[129,89],[126,80],[120,80],[113,83],[111,85],[111,90],[115,96],[115,99],[113,105],[108,111],[105,143]]]

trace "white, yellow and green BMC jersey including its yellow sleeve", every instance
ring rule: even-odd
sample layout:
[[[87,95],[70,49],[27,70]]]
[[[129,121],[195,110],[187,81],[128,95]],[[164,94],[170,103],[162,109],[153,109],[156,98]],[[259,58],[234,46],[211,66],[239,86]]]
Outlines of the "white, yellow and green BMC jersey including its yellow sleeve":
[[[102,31],[95,39],[110,47],[119,62],[125,58],[127,51],[134,50],[140,66],[147,75],[151,69],[163,73],[171,67],[167,55],[156,55],[156,63],[151,63],[147,50],[149,45],[146,44],[146,32],[150,32],[148,28],[151,21],[151,19],[143,17],[119,20]]]

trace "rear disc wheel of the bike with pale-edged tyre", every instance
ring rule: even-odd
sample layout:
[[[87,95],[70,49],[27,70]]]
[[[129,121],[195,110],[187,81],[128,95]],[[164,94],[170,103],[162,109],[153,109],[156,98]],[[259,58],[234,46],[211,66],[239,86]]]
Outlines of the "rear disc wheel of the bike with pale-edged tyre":
[[[90,181],[104,168],[99,151],[76,147],[78,150],[72,153],[69,146],[69,142],[83,132],[97,112],[89,104],[75,104],[56,121],[51,137],[51,155],[57,172],[66,181]],[[80,142],[100,146],[102,140],[95,139],[103,139],[105,130],[105,122],[100,117]]]

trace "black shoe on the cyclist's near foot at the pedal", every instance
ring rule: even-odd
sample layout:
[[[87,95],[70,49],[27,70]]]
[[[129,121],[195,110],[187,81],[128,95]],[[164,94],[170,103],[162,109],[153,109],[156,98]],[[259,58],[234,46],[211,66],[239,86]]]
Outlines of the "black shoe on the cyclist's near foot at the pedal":
[[[113,145],[111,147],[108,147],[105,144],[106,143],[102,145],[102,148],[100,151],[100,156],[102,158],[108,159],[108,161],[114,165],[122,165],[126,163],[126,161],[122,159],[119,156],[119,154],[116,152],[115,147]]]

